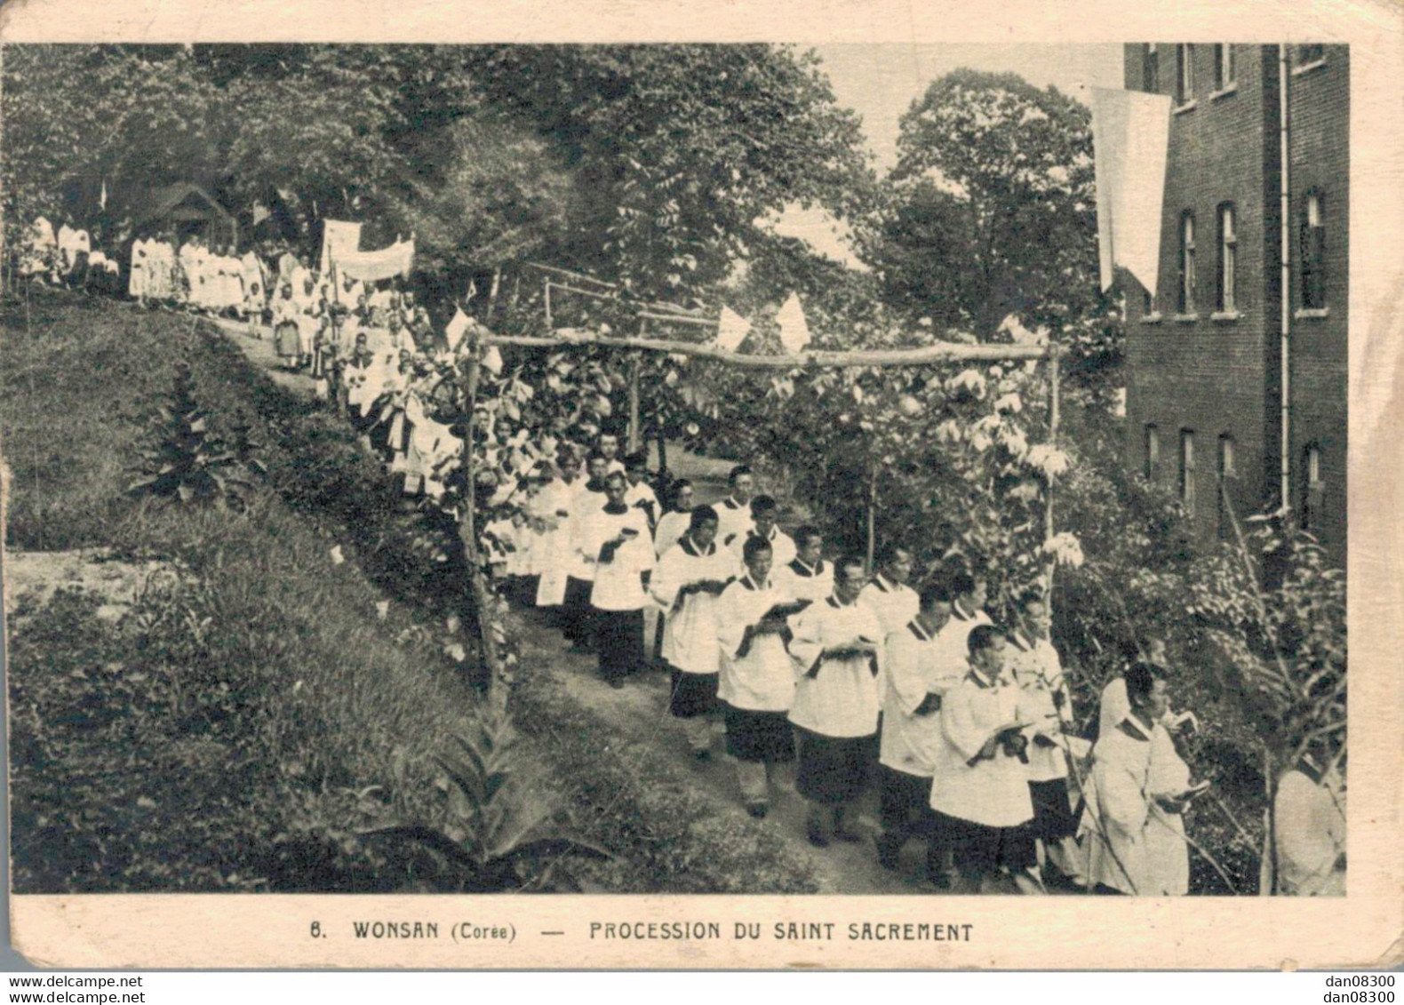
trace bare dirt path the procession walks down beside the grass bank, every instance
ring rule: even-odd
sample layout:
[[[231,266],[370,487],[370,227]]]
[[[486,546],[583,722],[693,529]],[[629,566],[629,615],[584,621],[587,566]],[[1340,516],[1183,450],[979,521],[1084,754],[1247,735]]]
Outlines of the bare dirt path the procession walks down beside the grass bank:
[[[282,369],[272,348],[270,330],[264,328],[264,337],[256,338],[250,335],[247,324],[236,321],[215,321],[215,324],[230,335],[253,362],[267,369],[278,385],[298,393],[312,393],[310,378]],[[731,462],[699,458],[687,453],[681,446],[668,448],[668,460],[680,476],[694,481],[699,502],[713,502],[726,495],[726,473]],[[717,813],[737,816],[744,813],[737,797],[734,762],[723,752],[723,738],[720,736],[715,738],[710,761],[698,761],[688,751],[677,720],[667,714],[665,674],[661,671],[640,674],[616,691],[600,679],[594,657],[567,653],[560,633],[543,625],[536,612],[521,612],[521,623],[524,632],[519,641],[526,665],[543,668],[564,693],[602,721],[636,741],[649,743],[675,757],[696,789],[715,801]],[[761,825],[785,841],[797,856],[813,863],[823,893],[936,893],[922,879],[925,848],[920,842],[908,842],[900,872],[889,872],[878,865],[872,842],[878,834],[873,793],[869,793],[858,817],[856,830],[865,837],[862,844],[834,842],[824,849],[813,848],[804,837],[804,801],[795,792],[795,769],[790,766],[782,771],[779,792],[775,793],[771,813]]]

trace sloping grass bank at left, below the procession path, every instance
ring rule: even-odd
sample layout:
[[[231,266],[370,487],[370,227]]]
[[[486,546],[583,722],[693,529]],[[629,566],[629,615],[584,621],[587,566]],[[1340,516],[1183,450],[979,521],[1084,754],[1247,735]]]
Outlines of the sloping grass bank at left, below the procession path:
[[[461,570],[418,549],[378,462],[190,319],[51,296],[0,327],[10,547],[168,570],[118,620],[60,591],[11,636],[15,888],[445,888],[442,862],[358,837],[392,817],[451,825],[437,757],[479,705],[453,651],[468,636],[448,626]],[[244,512],[125,491],[183,358],[215,432],[261,445]],[[643,740],[584,758],[600,723],[546,689],[519,698],[524,789],[559,793],[615,855],[581,865],[592,886],[812,888]]]

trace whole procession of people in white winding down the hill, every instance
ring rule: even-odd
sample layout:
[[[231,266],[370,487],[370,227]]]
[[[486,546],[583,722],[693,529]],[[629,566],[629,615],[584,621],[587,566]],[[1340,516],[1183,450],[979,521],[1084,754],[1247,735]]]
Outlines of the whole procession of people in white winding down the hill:
[[[69,285],[81,272],[88,288],[91,274],[118,271],[86,232],[55,233],[42,218],[20,265]],[[168,233],[133,243],[126,292],[244,319],[254,333],[268,321],[282,361],[310,368],[406,494],[444,494],[462,439],[434,418],[435,394],[472,341],[462,313],[439,333],[397,279],[323,275],[285,248],[177,247]],[[490,350],[483,365],[501,372],[503,361]],[[611,686],[664,665],[694,755],[710,759],[724,731],[751,816],[767,816],[775,768],[797,759],[816,846],[861,839],[855,810],[876,785],[879,862],[899,867],[903,846],[924,838],[938,887],[1188,893],[1184,813],[1209,783],[1181,754],[1198,721],[1170,712],[1161,648],[1126,654],[1095,736],[1075,736],[1042,592],[995,625],[969,570],[934,570],[918,590],[899,545],[872,574],[861,557],[827,560],[817,528],[776,525],[776,501],[744,465],[716,505],[695,504],[680,480],[664,507],[647,456],[621,458],[612,432],[588,451],[567,435],[545,449],[522,439],[500,445],[521,479],[494,501],[521,505],[486,528],[497,574],[521,604],[549,609],[576,651],[594,653]],[[1279,785],[1283,893],[1344,893],[1341,764],[1324,740]]]

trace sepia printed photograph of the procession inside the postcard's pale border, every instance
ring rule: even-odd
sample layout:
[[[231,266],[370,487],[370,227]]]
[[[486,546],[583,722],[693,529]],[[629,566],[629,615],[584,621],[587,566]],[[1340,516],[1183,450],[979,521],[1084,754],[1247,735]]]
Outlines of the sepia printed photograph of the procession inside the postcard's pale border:
[[[1344,898],[1351,59],[7,41],[11,896]]]

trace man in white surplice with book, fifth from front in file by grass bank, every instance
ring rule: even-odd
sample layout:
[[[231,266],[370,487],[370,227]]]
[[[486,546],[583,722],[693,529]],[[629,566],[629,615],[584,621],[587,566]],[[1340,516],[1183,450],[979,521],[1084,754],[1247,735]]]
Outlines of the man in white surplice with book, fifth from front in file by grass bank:
[[[716,511],[692,511],[688,532],[661,559],[649,581],[649,594],[667,613],[663,661],[671,677],[668,712],[682,720],[688,745],[701,758],[712,757],[712,719],[717,703],[722,650],[716,606],[731,575],[731,563],[716,546]]]

